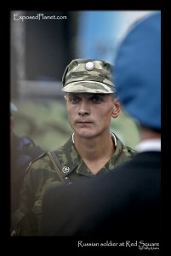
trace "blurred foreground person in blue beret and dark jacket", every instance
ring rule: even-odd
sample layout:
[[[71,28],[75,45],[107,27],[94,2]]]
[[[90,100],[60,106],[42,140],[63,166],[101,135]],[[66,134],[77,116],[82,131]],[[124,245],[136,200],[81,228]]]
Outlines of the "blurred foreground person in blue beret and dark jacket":
[[[128,247],[132,242],[134,248],[157,251],[162,238],[160,12],[130,28],[117,49],[114,81],[123,109],[140,124],[137,154],[105,177],[49,188],[41,233],[125,239]]]

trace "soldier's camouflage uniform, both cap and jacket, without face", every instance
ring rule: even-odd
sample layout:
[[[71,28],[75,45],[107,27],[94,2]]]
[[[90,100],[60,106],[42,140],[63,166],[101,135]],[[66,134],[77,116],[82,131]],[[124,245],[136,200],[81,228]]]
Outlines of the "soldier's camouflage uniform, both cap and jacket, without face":
[[[65,92],[87,92],[87,93],[113,93],[115,87],[111,79],[111,64],[106,61],[81,60],[71,61],[66,67],[62,78],[63,91]],[[72,136],[61,148],[55,150],[55,154],[60,160],[61,168],[58,168],[61,176],[68,183],[74,183],[79,179],[103,175],[111,172],[115,166],[125,160],[132,158],[135,151],[129,148],[111,133],[115,143],[115,152],[111,159],[103,166],[97,174],[93,174],[88,166],[83,162],[74,146]],[[29,166],[23,189],[21,191],[20,212],[15,216],[14,223],[20,226],[18,236],[39,236],[39,221],[42,213],[43,193],[48,186],[62,181],[54,169],[52,160],[48,152],[39,156]],[[21,217],[22,221],[19,222]],[[19,225],[20,223],[20,225]]]

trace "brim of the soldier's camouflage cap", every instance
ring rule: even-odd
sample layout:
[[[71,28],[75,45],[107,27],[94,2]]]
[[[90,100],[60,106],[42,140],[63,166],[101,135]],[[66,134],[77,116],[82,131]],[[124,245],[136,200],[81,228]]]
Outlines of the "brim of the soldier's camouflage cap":
[[[115,88],[113,86],[103,84],[95,81],[79,81],[66,84],[62,88],[65,92],[77,92],[77,93],[114,93]]]

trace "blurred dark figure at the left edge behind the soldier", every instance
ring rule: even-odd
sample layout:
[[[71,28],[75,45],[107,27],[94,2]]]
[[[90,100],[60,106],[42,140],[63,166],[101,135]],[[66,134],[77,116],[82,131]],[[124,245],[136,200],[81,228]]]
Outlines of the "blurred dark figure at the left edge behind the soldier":
[[[20,207],[20,190],[31,160],[43,154],[44,150],[30,137],[19,137],[14,132],[14,122],[18,108],[10,102],[10,212],[13,214]]]

